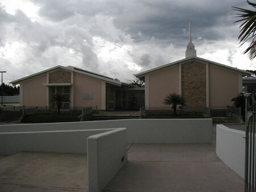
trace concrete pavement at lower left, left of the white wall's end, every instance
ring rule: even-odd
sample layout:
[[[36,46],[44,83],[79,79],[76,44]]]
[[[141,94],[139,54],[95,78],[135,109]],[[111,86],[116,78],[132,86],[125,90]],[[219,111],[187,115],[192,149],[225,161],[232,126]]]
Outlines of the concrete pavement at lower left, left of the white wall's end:
[[[20,152],[0,160],[0,191],[87,191],[87,156]]]

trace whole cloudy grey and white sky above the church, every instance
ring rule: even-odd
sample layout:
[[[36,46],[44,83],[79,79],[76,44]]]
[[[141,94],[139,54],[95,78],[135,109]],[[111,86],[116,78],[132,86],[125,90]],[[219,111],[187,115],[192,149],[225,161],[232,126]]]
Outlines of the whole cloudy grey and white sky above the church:
[[[232,6],[250,8],[244,0],[0,0],[0,70],[6,83],[56,65],[128,82],[184,59],[189,19],[197,56],[255,70]]]

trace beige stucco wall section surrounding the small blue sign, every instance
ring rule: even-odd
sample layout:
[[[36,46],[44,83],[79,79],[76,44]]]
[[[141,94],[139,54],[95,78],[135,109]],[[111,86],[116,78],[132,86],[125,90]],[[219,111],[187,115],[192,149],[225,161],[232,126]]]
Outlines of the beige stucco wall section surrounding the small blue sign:
[[[98,109],[102,109],[102,80],[74,73],[73,89],[74,107],[98,106]],[[93,100],[83,100],[83,93],[92,93]]]

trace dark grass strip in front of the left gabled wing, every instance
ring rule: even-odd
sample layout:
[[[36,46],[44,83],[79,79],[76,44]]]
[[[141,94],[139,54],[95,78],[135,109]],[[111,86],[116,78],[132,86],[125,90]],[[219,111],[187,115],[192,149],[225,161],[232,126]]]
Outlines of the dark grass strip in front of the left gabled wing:
[[[22,123],[79,122],[79,114],[30,114],[24,116]]]

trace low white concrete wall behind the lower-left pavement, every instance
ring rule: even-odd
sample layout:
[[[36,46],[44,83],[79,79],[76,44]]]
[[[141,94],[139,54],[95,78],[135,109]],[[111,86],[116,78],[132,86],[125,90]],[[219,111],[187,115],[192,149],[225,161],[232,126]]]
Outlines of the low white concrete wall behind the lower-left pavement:
[[[0,155],[11,155],[20,151],[86,154],[87,137],[112,130],[0,133]]]

